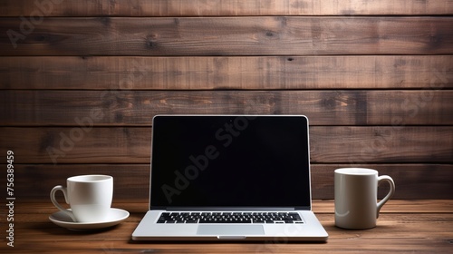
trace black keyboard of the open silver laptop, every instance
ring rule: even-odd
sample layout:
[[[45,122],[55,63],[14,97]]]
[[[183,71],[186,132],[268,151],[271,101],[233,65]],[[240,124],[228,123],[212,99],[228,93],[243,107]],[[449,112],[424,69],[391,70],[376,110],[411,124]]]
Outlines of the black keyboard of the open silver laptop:
[[[162,212],[158,223],[304,223],[297,212]]]

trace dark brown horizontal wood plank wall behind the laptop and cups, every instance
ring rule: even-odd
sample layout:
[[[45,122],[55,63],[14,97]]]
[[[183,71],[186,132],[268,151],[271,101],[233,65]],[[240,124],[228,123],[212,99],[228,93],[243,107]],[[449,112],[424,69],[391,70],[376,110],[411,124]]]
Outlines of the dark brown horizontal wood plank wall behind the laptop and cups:
[[[148,198],[158,113],[305,114],[313,199],[347,166],[451,199],[453,1],[5,0],[0,105],[22,199],[84,173]]]

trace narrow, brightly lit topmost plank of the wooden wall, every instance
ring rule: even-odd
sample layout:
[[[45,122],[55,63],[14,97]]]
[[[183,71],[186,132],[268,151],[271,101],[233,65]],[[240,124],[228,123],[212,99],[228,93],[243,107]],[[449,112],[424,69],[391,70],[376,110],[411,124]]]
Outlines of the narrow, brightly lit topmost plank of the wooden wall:
[[[448,15],[448,0],[4,0],[0,16]]]

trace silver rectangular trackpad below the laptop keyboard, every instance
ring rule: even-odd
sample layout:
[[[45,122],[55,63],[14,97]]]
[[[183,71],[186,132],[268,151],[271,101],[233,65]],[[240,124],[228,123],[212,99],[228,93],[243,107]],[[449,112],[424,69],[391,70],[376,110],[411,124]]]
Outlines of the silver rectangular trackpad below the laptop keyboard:
[[[261,225],[198,225],[198,235],[248,236],[264,235]]]

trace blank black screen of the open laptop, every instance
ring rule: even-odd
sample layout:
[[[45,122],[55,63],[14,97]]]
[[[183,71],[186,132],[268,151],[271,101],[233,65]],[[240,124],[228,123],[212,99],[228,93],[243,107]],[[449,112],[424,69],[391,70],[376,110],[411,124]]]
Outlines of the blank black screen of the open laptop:
[[[152,209],[311,205],[304,116],[159,115]]]

